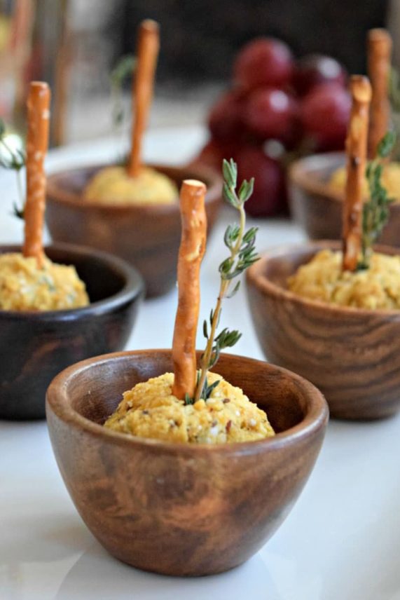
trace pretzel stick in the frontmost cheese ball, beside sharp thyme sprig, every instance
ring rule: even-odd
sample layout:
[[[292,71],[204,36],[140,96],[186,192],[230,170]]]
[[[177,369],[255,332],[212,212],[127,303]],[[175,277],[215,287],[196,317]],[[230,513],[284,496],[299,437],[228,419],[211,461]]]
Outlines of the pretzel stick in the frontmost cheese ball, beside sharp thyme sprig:
[[[172,393],[180,400],[187,393],[193,397],[196,384],[195,341],[200,306],[200,264],[205,253],[207,217],[202,182],[186,179],[181,186],[182,221],[178,259],[179,300],[175,318],[172,360],[174,386]]]

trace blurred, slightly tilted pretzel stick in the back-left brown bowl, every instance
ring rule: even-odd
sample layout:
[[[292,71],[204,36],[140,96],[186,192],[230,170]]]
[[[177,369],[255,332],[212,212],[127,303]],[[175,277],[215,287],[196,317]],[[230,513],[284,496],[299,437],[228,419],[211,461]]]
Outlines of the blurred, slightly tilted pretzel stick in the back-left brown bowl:
[[[137,67],[132,86],[135,120],[132,127],[132,145],[127,165],[131,177],[139,175],[142,159],[142,139],[146,129],[151,100],[153,99],[154,74],[160,48],[159,27],[150,19],[139,25],[137,41]]]

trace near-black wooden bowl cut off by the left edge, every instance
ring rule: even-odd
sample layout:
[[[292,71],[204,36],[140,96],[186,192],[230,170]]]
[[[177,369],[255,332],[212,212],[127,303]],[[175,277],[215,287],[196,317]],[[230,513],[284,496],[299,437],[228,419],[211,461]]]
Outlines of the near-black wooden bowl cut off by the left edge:
[[[1,253],[20,250],[0,246]],[[69,311],[0,311],[0,418],[44,418],[53,377],[77,360],[121,350],[143,296],[139,273],[110,254],[62,244],[46,254],[76,266],[92,304]]]

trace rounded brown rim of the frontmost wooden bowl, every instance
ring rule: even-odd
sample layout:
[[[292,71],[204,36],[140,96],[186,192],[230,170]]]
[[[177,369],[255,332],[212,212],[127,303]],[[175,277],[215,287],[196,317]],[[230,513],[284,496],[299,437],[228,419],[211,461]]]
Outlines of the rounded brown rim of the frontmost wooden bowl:
[[[68,381],[73,379],[82,371],[90,369],[94,364],[106,364],[110,360],[123,360],[126,357],[134,358],[136,355],[142,353],[158,353],[163,355],[171,355],[172,350],[163,348],[154,348],[146,350],[125,350],[123,352],[109,353],[92,357],[81,362],[67,367],[61,371],[55,379],[50,383],[46,392],[46,414],[53,412],[57,418],[64,422],[66,425],[70,425],[76,430],[84,430],[85,433],[94,437],[104,437],[106,442],[117,444],[118,446],[128,446],[132,449],[145,447],[148,451],[166,454],[204,454],[211,452],[213,454],[230,454],[232,456],[239,455],[252,455],[269,449],[269,451],[276,451],[283,446],[289,444],[296,444],[301,442],[303,439],[316,435],[319,430],[324,430],[326,423],[329,419],[329,408],[328,404],[322,393],[312,384],[298,374],[284,369],[283,367],[277,367],[275,364],[270,364],[265,360],[258,360],[250,357],[243,357],[240,355],[226,354],[222,356],[228,360],[245,360],[258,365],[263,369],[270,369],[271,371],[278,371],[282,374],[289,375],[292,381],[295,381],[297,386],[301,386],[305,393],[308,394],[310,399],[310,407],[305,417],[300,423],[294,425],[283,432],[277,433],[273,437],[267,437],[265,439],[254,440],[251,442],[233,442],[230,444],[178,444],[174,442],[165,442],[160,439],[151,439],[146,437],[139,437],[134,435],[126,435],[124,433],[116,432],[110,429],[104,428],[103,425],[94,423],[90,419],[83,417],[77,411],[71,408],[67,397],[67,385]],[[198,352],[198,356],[201,353]],[[218,367],[217,367],[218,370]]]

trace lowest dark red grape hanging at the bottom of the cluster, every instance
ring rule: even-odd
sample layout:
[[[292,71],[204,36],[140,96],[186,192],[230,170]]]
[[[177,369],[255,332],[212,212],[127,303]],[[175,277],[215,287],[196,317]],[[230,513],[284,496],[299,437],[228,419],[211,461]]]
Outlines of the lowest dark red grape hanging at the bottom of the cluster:
[[[238,182],[254,177],[254,192],[244,205],[254,217],[269,217],[285,207],[284,172],[280,163],[256,146],[243,146],[237,152]]]

